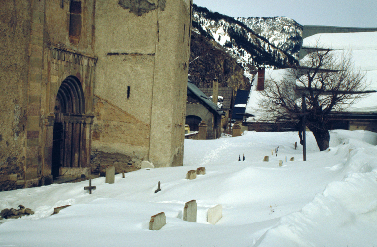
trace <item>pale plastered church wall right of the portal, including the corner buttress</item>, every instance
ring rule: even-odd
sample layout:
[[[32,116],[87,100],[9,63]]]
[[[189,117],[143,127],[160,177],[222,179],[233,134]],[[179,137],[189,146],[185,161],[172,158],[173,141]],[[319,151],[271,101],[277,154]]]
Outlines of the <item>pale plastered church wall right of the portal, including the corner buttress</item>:
[[[93,140],[93,152],[121,153],[156,166],[182,165],[190,37],[185,2],[97,1],[94,94],[117,114],[109,116],[109,124],[95,119],[95,128],[108,135]],[[121,120],[129,116],[137,122]],[[119,133],[130,136],[118,138]],[[140,134],[143,142],[137,147]]]

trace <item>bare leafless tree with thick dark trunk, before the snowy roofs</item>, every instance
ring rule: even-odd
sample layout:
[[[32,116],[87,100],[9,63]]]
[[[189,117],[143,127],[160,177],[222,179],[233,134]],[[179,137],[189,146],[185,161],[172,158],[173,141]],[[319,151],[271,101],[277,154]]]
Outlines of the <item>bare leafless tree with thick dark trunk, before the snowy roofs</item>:
[[[351,52],[313,49],[289,69],[280,81],[267,80],[258,111],[266,122],[291,123],[300,129],[302,99],[306,102],[306,126],[313,132],[320,151],[329,147],[327,129],[331,111],[342,111],[365,97],[365,74],[354,68]],[[299,131],[302,144],[302,135]]]

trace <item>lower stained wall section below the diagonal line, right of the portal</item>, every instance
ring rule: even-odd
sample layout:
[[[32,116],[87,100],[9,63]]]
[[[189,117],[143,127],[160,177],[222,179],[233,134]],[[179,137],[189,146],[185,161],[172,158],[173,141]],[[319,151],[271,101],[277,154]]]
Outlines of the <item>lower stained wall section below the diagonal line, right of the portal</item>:
[[[149,125],[98,97],[94,97],[94,109],[92,170],[112,164],[109,156],[117,158],[122,170],[129,164],[140,168],[140,160],[148,159]]]

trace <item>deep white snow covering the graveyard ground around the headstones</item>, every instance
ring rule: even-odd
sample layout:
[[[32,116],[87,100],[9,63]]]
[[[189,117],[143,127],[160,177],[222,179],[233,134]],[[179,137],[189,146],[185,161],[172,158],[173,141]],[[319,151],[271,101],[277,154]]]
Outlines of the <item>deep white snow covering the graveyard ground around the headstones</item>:
[[[183,167],[119,174],[114,184],[94,179],[91,195],[83,189],[87,181],[0,192],[0,210],[22,204],[35,211],[0,221],[0,246],[376,247],[377,134],[331,131],[323,152],[307,135],[307,161],[301,146],[294,149],[296,132],[246,132],[185,140]],[[276,147],[277,157],[271,155]],[[202,166],[205,175],[185,179]],[[158,181],[161,191],[154,193]],[[193,199],[197,223],[182,220],[185,202]],[[212,225],[206,212],[217,204],[223,217]],[[148,230],[159,212],[166,225]]]

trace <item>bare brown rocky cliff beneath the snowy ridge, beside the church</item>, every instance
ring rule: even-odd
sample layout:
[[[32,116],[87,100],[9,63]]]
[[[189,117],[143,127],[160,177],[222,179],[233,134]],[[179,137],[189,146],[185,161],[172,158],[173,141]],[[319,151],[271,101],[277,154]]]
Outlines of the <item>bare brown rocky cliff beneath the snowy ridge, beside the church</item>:
[[[216,77],[219,87],[231,87],[234,92],[237,92],[237,89],[249,90],[250,80],[245,76],[237,59],[205,32],[202,32],[203,35],[197,32],[200,31],[195,29],[191,32],[188,78],[197,87],[212,87]],[[249,69],[256,71],[256,67],[251,65]]]

